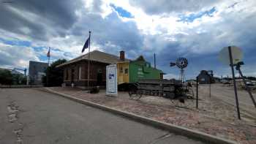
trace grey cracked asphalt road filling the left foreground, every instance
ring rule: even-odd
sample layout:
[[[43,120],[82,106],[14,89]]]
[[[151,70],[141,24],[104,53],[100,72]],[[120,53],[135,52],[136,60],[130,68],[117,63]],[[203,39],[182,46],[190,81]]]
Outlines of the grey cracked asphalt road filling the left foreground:
[[[0,143],[201,143],[29,88],[0,88]]]

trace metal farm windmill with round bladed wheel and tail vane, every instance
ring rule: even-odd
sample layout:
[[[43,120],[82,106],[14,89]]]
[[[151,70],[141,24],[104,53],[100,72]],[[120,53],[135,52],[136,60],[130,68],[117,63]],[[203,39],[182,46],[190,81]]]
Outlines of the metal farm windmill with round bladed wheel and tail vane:
[[[180,76],[179,76],[179,80],[181,80],[181,83],[185,82],[184,68],[187,67],[188,64],[189,64],[189,62],[187,61],[187,58],[177,58],[176,62],[171,62],[170,63],[170,67],[177,66],[178,69],[181,70]]]

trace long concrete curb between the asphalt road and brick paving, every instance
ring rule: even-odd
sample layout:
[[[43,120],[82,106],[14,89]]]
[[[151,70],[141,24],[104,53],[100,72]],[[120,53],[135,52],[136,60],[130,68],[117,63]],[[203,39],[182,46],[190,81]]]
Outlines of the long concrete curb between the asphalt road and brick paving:
[[[115,108],[106,107],[104,105],[99,105],[97,103],[89,102],[89,101],[86,101],[84,99],[79,99],[79,98],[76,98],[74,96],[69,96],[67,94],[61,94],[57,91],[51,90],[50,88],[43,88],[43,89],[38,89],[38,90],[49,92],[51,94],[57,94],[59,96],[62,96],[64,98],[67,98],[67,99],[70,99],[70,100],[73,100],[75,102],[79,102],[81,104],[89,105],[91,107],[97,107],[101,110],[107,110],[110,113],[114,113],[114,114],[117,114],[117,115],[123,115],[124,117],[131,118],[132,120],[138,121],[140,123],[148,124],[148,125],[157,127],[159,129],[165,129],[169,132],[173,132],[173,133],[176,133],[176,134],[181,134],[183,136],[192,138],[194,140],[201,140],[205,143],[216,143],[216,144],[217,143],[218,144],[219,143],[224,143],[224,144],[234,144],[234,143],[236,143],[235,141],[225,140],[221,137],[216,137],[216,136],[211,135],[211,134],[206,134],[206,133],[195,131],[195,130],[192,130],[192,129],[187,129],[187,128],[184,128],[184,127],[181,127],[181,126],[176,126],[174,124],[167,124],[167,123],[162,122],[162,121],[157,121],[157,120],[154,120],[154,119],[151,119],[151,118],[146,118],[146,117],[143,117],[143,116],[140,116],[140,115],[136,115],[134,113],[125,112],[123,110],[117,110]]]

